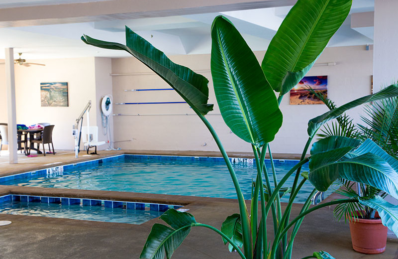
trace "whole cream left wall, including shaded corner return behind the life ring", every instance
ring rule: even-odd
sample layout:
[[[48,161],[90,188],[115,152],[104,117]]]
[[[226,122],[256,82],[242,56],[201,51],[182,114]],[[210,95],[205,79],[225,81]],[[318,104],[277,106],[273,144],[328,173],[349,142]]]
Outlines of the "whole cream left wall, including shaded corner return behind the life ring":
[[[34,60],[46,66],[15,65],[17,123],[27,126],[36,123],[55,125],[53,142],[55,149],[74,149],[72,125],[83,111],[89,100],[91,126],[99,127],[99,139],[105,140],[102,134],[100,101],[105,94],[112,93],[110,58],[71,58]],[[0,66],[0,78],[4,65]],[[0,80],[0,122],[6,122],[5,80]],[[68,82],[68,107],[41,107],[40,83]],[[4,110],[5,109],[5,110]],[[112,121],[112,120],[111,120]],[[86,125],[86,115],[83,125]],[[83,146],[83,144],[82,144]],[[104,149],[108,145],[102,145]]]

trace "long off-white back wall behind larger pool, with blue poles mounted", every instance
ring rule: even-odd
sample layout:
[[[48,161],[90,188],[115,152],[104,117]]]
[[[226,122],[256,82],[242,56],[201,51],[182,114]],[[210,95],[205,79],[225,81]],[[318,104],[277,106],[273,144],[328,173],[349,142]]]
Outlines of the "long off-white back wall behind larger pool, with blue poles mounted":
[[[261,61],[264,52],[256,52]],[[214,111],[206,117],[218,132],[228,151],[251,152],[251,146],[240,140],[225,126],[219,114],[210,75],[209,55],[181,55],[171,59],[209,79],[209,103]],[[336,66],[314,67],[308,75],[327,75],[329,97],[337,105],[370,94],[373,53],[364,46],[327,48],[317,63],[336,62]],[[163,80],[134,58],[112,59],[112,73],[133,73],[113,77],[114,103],[183,101],[174,91],[124,92],[124,89],[167,88]],[[289,95],[281,104],[284,123],[271,143],[273,152],[301,153],[306,142],[309,119],[327,111],[323,105],[289,105]],[[115,105],[116,114],[193,114],[187,104]],[[350,114],[358,119],[360,109]],[[196,116],[152,115],[116,116],[114,135],[118,147],[143,150],[218,150],[210,133]],[[127,141],[125,141],[127,140]],[[203,145],[206,143],[206,145]]]

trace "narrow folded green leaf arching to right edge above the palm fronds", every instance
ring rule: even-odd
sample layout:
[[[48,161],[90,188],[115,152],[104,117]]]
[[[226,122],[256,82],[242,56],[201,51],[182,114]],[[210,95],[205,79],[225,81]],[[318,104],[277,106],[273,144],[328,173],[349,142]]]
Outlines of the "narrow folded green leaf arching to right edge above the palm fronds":
[[[339,108],[336,108],[334,110],[331,110],[327,113],[324,113],[318,117],[315,117],[308,122],[308,135],[312,136],[316,130],[319,129],[323,124],[326,122],[336,119],[340,115],[342,115],[345,111],[350,110],[354,107],[357,107],[359,105],[372,102],[372,101],[378,101],[390,97],[396,97],[398,96],[398,84],[391,85],[389,87],[386,87],[385,89],[377,92],[376,94],[373,95],[367,95],[364,97],[361,97],[357,100],[354,100],[352,102],[349,102],[343,106],[340,106]]]

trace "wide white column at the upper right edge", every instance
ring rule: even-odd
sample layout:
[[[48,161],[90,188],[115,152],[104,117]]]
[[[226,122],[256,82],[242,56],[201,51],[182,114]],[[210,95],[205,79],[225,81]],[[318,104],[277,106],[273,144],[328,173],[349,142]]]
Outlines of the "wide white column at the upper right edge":
[[[397,10],[397,0],[375,0],[374,93],[398,80]]]

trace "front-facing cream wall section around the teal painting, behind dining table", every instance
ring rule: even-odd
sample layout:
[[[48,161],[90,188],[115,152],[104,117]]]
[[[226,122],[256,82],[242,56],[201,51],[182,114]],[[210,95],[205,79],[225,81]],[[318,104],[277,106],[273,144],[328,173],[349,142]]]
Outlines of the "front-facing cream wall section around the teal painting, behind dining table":
[[[15,65],[17,123],[55,125],[55,149],[73,149],[72,125],[89,100],[96,100],[94,58],[35,60],[46,66]],[[68,82],[68,107],[41,107],[40,83]],[[96,122],[97,111],[90,111]]]

